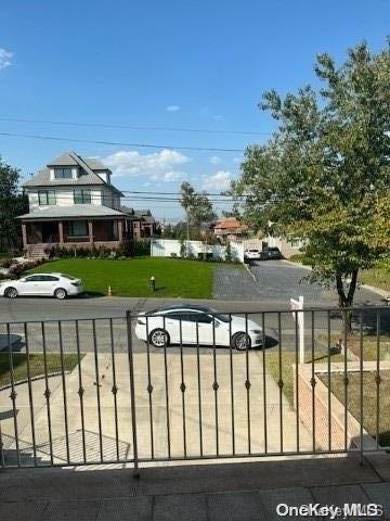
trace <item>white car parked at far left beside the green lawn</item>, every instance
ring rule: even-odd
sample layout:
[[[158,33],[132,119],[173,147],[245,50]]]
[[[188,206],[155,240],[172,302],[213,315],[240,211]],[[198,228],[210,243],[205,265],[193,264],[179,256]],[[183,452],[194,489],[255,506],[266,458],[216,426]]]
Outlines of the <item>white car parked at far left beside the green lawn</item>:
[[[31,274],[18,280],[0,282],[0,295],[9,298],[16,296],[55,296],[66,298],[79,295],[84,289],[80,279],[64,274]]]

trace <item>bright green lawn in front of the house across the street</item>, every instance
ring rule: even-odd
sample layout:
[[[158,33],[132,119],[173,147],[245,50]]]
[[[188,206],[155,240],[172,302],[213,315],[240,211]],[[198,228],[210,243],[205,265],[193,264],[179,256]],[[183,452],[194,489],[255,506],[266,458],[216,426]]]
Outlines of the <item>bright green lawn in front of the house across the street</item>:
[[[113,294],[118,296],[211,298],[213,271],[218,267],[242,269],[240,265],[135,257],[126,260],[67,258],[43,264],[34,271],[79,277],[88,292],[100,295],[106,295],[110,285]],[[152,276],[156,279],[155,292],[150,287]]]

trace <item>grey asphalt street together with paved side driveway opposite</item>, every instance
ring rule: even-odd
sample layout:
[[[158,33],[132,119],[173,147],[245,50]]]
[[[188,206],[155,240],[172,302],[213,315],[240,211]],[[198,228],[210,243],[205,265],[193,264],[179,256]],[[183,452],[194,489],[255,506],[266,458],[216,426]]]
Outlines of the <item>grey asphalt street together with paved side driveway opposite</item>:
[[[307,270],[284,262],[257,263],[251,267],[257,281],[245,270],[230,270],[231,277],[223,280],[225,274],[220,274],[217,284],[224,288],[224,298],[213,301],[185,301],[205,304],[220,312],[234,314],[248,314],[248,318],[260,326],[264,315],[264,329],[268,336],[268,347],[280,345],[283,350],[294,350],[296,345],[296,326],[290,313],[289,298],[303,295],[306,304],[314,307],[336,307],[335,292],[328,292],[318,285],[310,287],[301,279]],[[232,278],[232,272],[235,274]],[[239,276],[237,277],[237,274]],[[229,293],[229,295],[227,295]],[[245,300],[247,296],[247,300]],[[381,304],[380,296],[366,290],[359,290],[356,303]],[[25,332],[22,322],[28,325],[29,346],[32,351],[42,350],[42,327],[40,321],[51,321],[46,326],[46,340],[48,351],[58,351],[58,320],[69,320],[62,326],[62,338],[65,351],[76,350],[75,320],[80,320],[80,348],[93,351],[94,334],[93,322],[95,319],[96,348],[101,352],[110,351],[109,318],[113,318],[113,334],[116,352],[127,350],[126,312],[147,310],[156,307],[183,302],[177,298],[126,298],[126,297],[88,297],[56,301],[54,298],[20,297],[14,301],[0,297],[0,347],[6,336],[5,322],[15,322],[11,326],[11,333],[23,342],[20,348],[25,350]],[[278,310],[284,313],[278,316]],[[306,314],[306,336],[308,341],[312,334],[312,314]],[[316,312],[314,315],[315,333],[321,342],[326,343],[327,312]],[[18,323],[17,323],[18,322]],[[332,315],[332,331],[340,330],[340,319]],[[324,340],[325,339],[325,340]],[[6,339],[5,339],[6,340]],[[15,344],[16,345],[16,344]],[[135,351],[144,351],[143,342],[133,338]],[[174,347],[172,347],[174,348]]]

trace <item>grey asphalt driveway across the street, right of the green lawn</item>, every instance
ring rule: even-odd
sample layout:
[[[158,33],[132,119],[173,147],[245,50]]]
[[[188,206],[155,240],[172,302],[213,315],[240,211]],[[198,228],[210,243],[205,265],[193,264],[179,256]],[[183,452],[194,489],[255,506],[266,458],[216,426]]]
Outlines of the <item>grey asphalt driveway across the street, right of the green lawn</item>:
[[[284,260],[257,262],[250,266],[253,280],[247,271],[221,268],[214,278],[214,297],[280,303],[285,307],[291,297],[303,295],[307,305],[337,305],[336,290],[311,284],[307,268]],[[372,291],[358,289],[355,304],[379,304],[381,297]]]

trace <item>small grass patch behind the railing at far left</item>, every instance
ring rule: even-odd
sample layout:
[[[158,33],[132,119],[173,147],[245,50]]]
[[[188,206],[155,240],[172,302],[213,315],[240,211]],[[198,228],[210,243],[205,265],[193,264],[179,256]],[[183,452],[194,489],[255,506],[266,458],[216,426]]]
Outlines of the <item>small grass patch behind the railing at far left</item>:
[[[27,379],[27,355],[25,353],[13,353],[13,376],[14,382]],[[72,371],[78,364],[77,355],[64,354],[64,369]],[[44,374],[43,355],[34,353],[29,355],[30,378]],[[48,374],[61,371],[61,355],[57,353],[47,354]],[[0,353],[0,387],[11,383],[10,356],[9,353]]]

